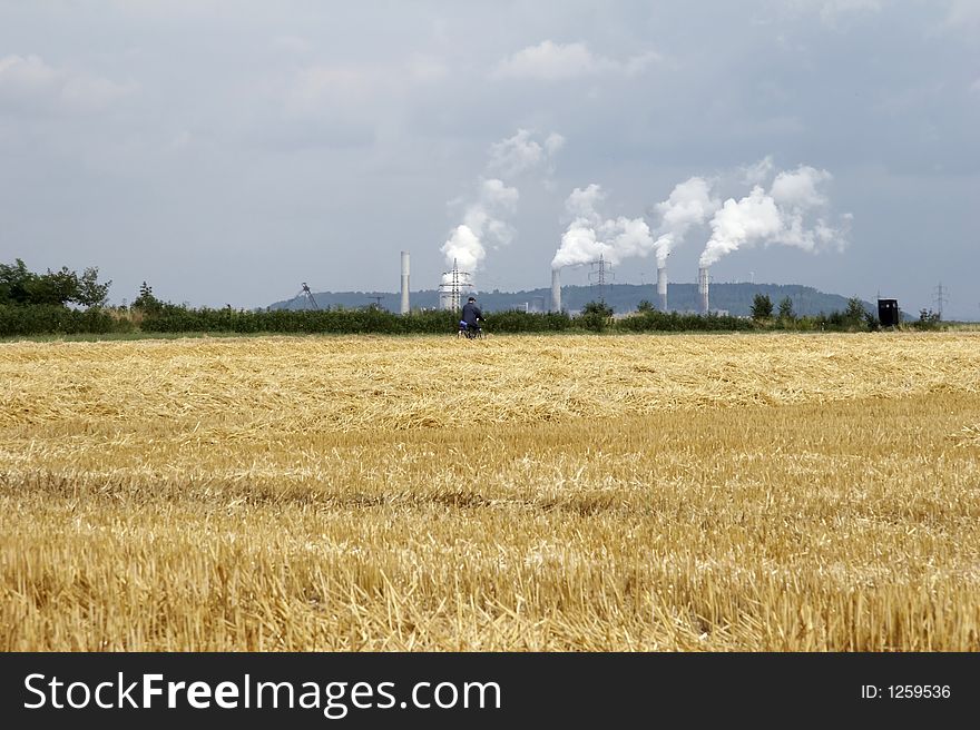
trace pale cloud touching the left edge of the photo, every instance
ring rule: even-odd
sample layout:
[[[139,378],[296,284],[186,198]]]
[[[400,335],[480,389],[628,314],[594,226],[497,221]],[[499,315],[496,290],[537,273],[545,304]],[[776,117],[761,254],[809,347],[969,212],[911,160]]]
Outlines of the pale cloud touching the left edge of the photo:
[[[0,58],[0,103],[7,108],[99,110],[136,89],[133,83],[117,83],[91,73],[50,66],[40,56]]]

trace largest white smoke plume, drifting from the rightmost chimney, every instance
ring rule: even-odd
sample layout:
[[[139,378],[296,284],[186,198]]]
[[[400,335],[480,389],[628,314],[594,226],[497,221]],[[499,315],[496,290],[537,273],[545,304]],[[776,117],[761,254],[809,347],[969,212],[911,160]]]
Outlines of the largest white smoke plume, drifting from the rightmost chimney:
[[[749,168],[747,179],[771,174],[770,158]],[[768,193],[762,185],[735,200],[729,198],[710,221],[712,236],[700,255],[700,266],[710,266],[719,258],[739,248],[781,244],[806,251],[836,245],[846,245],[851,216],[841,216],[832,226],[825,215],[830,200],[821,185],[832,178],[826,170],[801,165],[795,170],[778,172]]]

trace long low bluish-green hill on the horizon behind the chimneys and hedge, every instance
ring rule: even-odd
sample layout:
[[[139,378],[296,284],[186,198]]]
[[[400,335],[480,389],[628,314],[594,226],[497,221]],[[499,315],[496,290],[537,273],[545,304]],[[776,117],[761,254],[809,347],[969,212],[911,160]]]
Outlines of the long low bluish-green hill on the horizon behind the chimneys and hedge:
[[[825,294],[810,286],[798,284],[712,284],[712,309],[725,309],[733,316],[748,316],[752,299],[756,294],[767,294],[777,308],[784,297],[793,302],[793,310],[797,315],[816,315],[821,312],[830,314],[843,310],[847,306],[847,297],[839,294]],[[615,284],[599,292],[590,286],[561,287],[561,306],[569,312],[577,312],[587,303],[602,298],[617,313],[634,312],[637,305],[647,299],[658,305],[656,287],[653,285]],[[313,298],[321,309],[326,307],[344,307],[355,309],[376,304],[384,309],[398,312],[401,294],[398,292],[314,292]],[[435,289],[422,289],[411,293],[413,309],[434,309],[439,306],[439,293]],[[487,312],[506,309],[528,309],[529,312],[547,310],[551,306],[551,289],[529,289],[520,292],[478,292],[480,307]],[[667,305],[679,312],[696,312],[700,305],[697,284],[668,284]],[[878,312],[878,305],[864,302],[871,312]],[[304,297],[294,297],[284,302],[275,302],[270,309],[306,309],[311,308]]]

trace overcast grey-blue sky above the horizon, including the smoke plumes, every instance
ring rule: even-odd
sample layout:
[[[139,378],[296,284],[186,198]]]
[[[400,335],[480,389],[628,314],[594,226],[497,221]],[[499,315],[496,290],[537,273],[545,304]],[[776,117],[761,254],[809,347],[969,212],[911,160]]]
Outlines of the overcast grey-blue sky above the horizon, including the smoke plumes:
[[[0,0],[0,262],[252,308],[403,250],[651,285],[669,235],[673,282],[980,319],[978,38],[980,0]]]

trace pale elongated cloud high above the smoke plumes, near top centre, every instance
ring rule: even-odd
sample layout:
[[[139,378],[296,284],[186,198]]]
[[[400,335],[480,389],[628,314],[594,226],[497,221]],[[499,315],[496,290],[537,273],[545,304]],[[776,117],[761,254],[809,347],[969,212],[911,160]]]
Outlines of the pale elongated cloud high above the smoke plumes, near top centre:
[[[545,40],[499,61],[490,71],[490,78],[562,81],[601,75],[631,77],[659,60],[658,53],[647,51],[618,61],[594,53],[582,42],[556,43]]]

